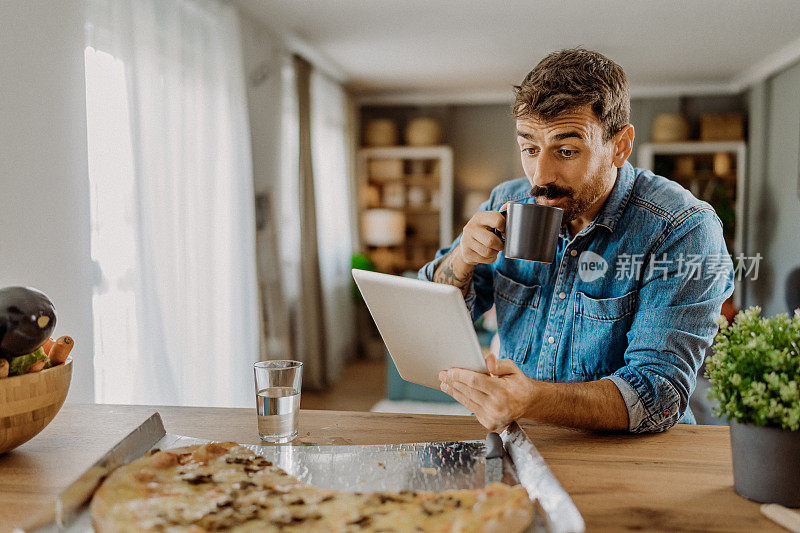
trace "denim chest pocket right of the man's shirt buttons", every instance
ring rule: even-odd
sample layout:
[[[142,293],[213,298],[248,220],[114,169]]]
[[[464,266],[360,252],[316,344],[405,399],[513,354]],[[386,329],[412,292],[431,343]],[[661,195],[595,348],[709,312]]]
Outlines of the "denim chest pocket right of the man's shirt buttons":
[[[570,343],[573,374],[602,377],[624,366],[636,300],[635,290],[616,298],[575,294]]]

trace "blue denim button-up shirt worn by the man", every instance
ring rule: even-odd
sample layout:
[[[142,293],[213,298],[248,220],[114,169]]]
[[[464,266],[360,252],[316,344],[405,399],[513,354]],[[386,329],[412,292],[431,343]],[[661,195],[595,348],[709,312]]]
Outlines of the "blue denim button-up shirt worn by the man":
[[[527,178],[497,186],[480,210],[535,203]],[[431,281],[439,250],[419,271]],[[677,183],[630,163],[595,219],[562,226],[553,263],[506,259],[475,268],[465,303],[473,320],[496,306],[500,357],[533,379],[609,379],[629,430],[664,431],[688,411],[733,264],[714,209]]]

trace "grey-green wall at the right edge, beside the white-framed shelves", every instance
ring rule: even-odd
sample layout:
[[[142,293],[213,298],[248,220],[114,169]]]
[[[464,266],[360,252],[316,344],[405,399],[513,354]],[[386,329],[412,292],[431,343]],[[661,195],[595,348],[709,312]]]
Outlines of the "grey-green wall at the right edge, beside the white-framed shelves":
[[[749,253],[764,257],[746,302],[771,315],[788,311],[786,278],[800,267],[800,62],[754,86],[749,95],[751,174]]]

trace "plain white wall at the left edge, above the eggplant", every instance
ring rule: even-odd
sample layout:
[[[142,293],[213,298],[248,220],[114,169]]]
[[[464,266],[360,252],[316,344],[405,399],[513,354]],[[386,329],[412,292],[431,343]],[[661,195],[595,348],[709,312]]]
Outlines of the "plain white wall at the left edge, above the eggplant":
[[[92,262],[81,0],[0,2],[0,286],[50,296],[90,402]]]

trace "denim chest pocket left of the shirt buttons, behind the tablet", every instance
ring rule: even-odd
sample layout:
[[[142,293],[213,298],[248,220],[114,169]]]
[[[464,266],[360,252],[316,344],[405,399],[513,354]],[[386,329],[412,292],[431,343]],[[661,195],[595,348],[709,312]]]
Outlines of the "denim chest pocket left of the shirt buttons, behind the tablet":
[[[525,362],[539,305],[540,285],[524,285],[495,271],[497,326],[502,358]]]

